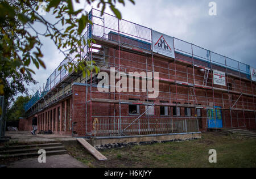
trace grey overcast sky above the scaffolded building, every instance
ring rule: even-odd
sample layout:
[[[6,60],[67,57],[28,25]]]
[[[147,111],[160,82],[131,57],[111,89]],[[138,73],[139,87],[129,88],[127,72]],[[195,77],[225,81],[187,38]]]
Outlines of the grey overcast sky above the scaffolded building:
[[[209,2],[212,1],[135,0],[136,5],[127,2],[125,7],[120,5],[118,9],[123,19],[256,67],[256,1],[216,0],[216,16],[208,13]],[[79,7],[85,7],[87,11],[91,8],[76,5]],[[97,8],[97,5],[94,3],[93,7]],[[109,8],[106,12],[112,14]],[[46,18],[54,20],[51,15],[46,15]],[[64,59],[51,40],[42,38],[42,42],[47,69],[35,70],[34,78],[39,83],[28,86],[30,95],[39,87],[43,88],[43,83]]]

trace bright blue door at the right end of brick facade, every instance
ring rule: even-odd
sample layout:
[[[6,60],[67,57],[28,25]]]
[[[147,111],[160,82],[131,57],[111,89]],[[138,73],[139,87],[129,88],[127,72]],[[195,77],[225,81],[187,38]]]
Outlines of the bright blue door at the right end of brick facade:
[[[216,118],[215,118],[216,113]],[[222,113],[221,113],[221,107],[215,106],[214,109],[208,109],[207,110],[207,128],[208,129],[216,129],[216,128],[222,128]]]

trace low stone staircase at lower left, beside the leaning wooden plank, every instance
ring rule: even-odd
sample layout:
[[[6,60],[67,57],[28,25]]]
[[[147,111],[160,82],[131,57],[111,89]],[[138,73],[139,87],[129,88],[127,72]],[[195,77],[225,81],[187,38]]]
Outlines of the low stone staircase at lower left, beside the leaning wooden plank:
[[[40,149],[46,150],[47,156],[67,154],[62,143],[27,144],[0,147],[0,159],[35,157],[40,155],[38,154]]]

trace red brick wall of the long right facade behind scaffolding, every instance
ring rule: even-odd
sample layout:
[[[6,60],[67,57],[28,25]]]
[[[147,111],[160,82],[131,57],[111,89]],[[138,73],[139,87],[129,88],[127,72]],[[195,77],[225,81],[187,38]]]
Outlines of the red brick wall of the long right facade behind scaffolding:
[[[115,58],[113,57],[115,54]],[[116,69],[118,69],[118,63],[119,63],[119,58],[118,58],[118,50],[114,50],[110,49],[109,50],[109,54],[107,54],[109,57],[109,62],[110,63],[114,63],[115,60],[115,65],[116,65]],[[134,72],[134,71],[138,71],[139,73],[141,71],[145,71],[146,72],[146,61],[147,61],[147,69],[148,71],[152,71],[152,58],[151,57],[144,57],[144,56],[140,56],[138,54],[133,54],[133,53],[129,53],[129,52],[121,52],[121,69],[123,71],[125,71],[126,73],[129,73],[129,71]],[[184,57],[181,56],[180,54],[177,54],[178,58],[188,58],[188,57]],[[132,62],[133,61],[133,62]],[[134,62],[136,61],[136,63]],[[200,64],[200,65],[204,65],[204,64]],[[174,63],[170,63],[170,79],[175,79],[175,74],[174,74]],[[182,66],[182,65],[176,65],[176,70],[177,70],[177,80],[183,81],[183,82],[188,82],[188,83],[192,83],[193,84],[193,69],[190,67],[187,69],[187,67]],[[221,69],[218,69],[221,70]],[[164,62],[158,58],[154,59],[154,71],[159,72],[159,77],[160,78],[169,78],[168,75],[168,62]],[[190,73],[187,76],[187,72]],[[199,70],[195,70],[195,80],[197,84],[203,84],[203,79],[204,79],[204,72],[199,71]],[[240,84],[240,80],[232,80],[232,78],[228,78],[230,83],[232,83],[234,86],[236,84]],[[115,83],[118,80],[115,80]],[[208,86],[212,86],[212,74],[209,74],[209,79],[208,79]],[[244,82],[243,82],[244,83]],[[250,84],[246,83],[246,86],[249,88]],[[214,87],[217,88],[224,88],[227,89],[227,87],[222,87],[222,86],[218,86],[218,85],[214,85]],[[241,91],[243,88],[239,87],[236,89],[236,91]],[[188,90],[188,87],[180,87],[177,86],[177,94],[176,94],[176,88],[175,85],[171,86],[171,95],[169,94],[169,85],[168,84],[164,84],[164,83],[160,83],[159,84],[159,91],[163,91],[165,93],[160,93],[159,97],[157,99],[154,99],[156,103],[159,103],[160,101],[168,101],[168,103],[173,103],[175,101],[181,103],[181,104],[185,104],[185,103],[191,103],[192,102],[192,97],[191,97],[191,93]],[[189,96],[188,96],[189,94]],[[141,96],[139,96],[141,95]],[[139,97],[138,97],[139,96]],[[147,99],[146,93],[143,92],[122,92],[121,94],[121,99],[139,99],[140,101],[145,101]],[[213,101],[213,91],[212,90],[203,90],[203,89],[196,89],[196,96],[197,96],[197,101],[199,101],[198,104],[201,105],[213,105],[213,102],[215,103],[216,106],[221,106],[221,108],[230,108],[230,105],[232,106],[236,100],[238,99],[238,97],[240,95],[232,95],[233,96],[233,100],[231,101],[231,103],[229,104],[229,96],[228,93],[223,93],[223,97],[222,97],[222,92],[220,91],[214,91],[214,101]],[[88,96],[89,97],[89,96]],[[113,97],[113,93],[112,94],[104,94],[104,93],[98,93],[97,92],[97,88],[93,88],[93,98],[100,98],[100,99],[114,99]],[[176,100],[177,98],[177,100]],[[115,93],[115,99],[119,99],[119,95],[118,93]],[[253,103],[253,98],[252,97],[246,97],[243,96],[240,100],[238,100],[236,106],[234,106],[234,108],[242,108],[242,105],[244,105],[244,107],[246,109],[254,109],[254,105],[249,105],[249,103]],[[119,106],[118,104],[115,105],[115,118],[118,118],[119,116]],[[89,105],[88,105],[89,108]],[[127,121],[127,117],[129,117],[128,114],[128,109],[129,109],[129,105],[121,105],[121,116],[126,116],[126,117],[122,117],[122,121],[126,122]],[[172,114],[172,108],[169,107],[169,112],[171,112],[171,117],[175,118]],[[145,112],[145,106],[140,106],[140,113],[142,114],[143,112]],[[89,112],[90,113],[90,112]],[[88,113],[88,114],[89,114]],[[185,117],[185,113],[184,113],[184,108],[181,108],[181,117],[180,119],[185,119],[185,118],[195,118],[195,109],[192,109],[192,116],[191,117]],[[223,126],[224,127],[243,127],[243,126],[247,126],[249,127],[249,118],[250,118],[250,128],[252,128],[253,126],[255,126],[255,119],[254,119],[254,114],[249,114],[248,112],[245,112],[247,114],[245,114],[245,118],[243,117],[243,112],[232,112],[232,122],[231,122],[231,118],[230,118],[230,111],[229,110],[222,110],[222,122],[223,122]],[[93,103],[92,106],[92,115],[93,116],[106,116],[106,117],[101,117],[102,121],[106,122],[105,128],[107,129],[109,127],[109,129],[113,129],[113,125],[109,125],[108,126],[108,118],[112,118],[113,121],[113,117],[108,117],[108,116],[114,116],[114,105],[113,104],[100,104],[100,103]],[[155,106],[155,116],[156,118],[161,119],[160,116],[160,106]],[[207,130],[207,109],[202,109],[202,122],[201,122],[201,126],[202,128],[200,129],[200,131],[205,131]],[[250,116],[250,117],[249,117]],[[95,117],[96,118],[96,117]],[[95,118],[92,119],[92,122],[95,120]],[[254,120],[253,120],[254,119]],[[155,119],[154,119],[155,120]],[[103,124],[104,122],[102,122]],[[113,123],[113,122],[112,122]],[[129,122],[127,122],[129,123]],[[231,125],[232,123],[232,125]],[[104,124],[102,125],[104,126]],[[116,126],[115,126],[116,127]]]

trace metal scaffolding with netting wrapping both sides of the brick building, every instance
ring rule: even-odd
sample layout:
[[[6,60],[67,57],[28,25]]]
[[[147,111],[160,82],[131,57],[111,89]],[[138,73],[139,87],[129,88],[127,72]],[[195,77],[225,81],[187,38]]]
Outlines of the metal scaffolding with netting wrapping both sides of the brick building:
[[[88,136],[185,133],[199,131],[204,128],[203,126],[209,128],[212,121],[215,121],[216,125],[212,128],[216,129],[220,116],[224,118],[224,127],[255,127],[250,126],[251,122],[256,122],[256,90],[255,83],[250,77],[249,65],[175,37],[175,59],[164,57],[152,51],[152,29],[123,19],[119,20],[107,13],[101,16],[101,12],[96,9],[92,9],[89,15],[93,25],[88,25],[84,37],[93,38],[96,43],[92,43],[90,48],[87,45],[82,46],[85,49],[84,60],[95,61],[101,67],[101,71],[107,73],[111,73],[111,67],[115,69],[115,73],[159,72],[159,84],[168,86],[167,90],[159,90],[159,97],[156,100],[148,98],[148,89],[139,93],[122,93],[115,90],[99,92],[96,74],[92,73],[81,79],[81,73],[72,71],[67,74],[65,72],[61,78],[64,72],[55,71],[50,80],[47,80],[48,91],[44,95],[46,99],[38,100],[41,101],[41,105],[34,109],[35,112],[57,103],[61,97],[70,95],[72,86],[69,87],[69,84],[82,82],[86,86],[85,131]],[[128,53],[129,56],[121,56],[124,53]],[[143,62],[136,58],[143,59]],[[77,61],[75,57],[68,57],[65,60],[67,59]],[[165,65],[159,64],[160,61]],[[225,73],[226,86],[213,83],[214,70]],[[154,84],[154,76],[152,79]],[[114,86],[110,85],[110,88],[112,87]],[[179,91],[181,87],[186,88],[187,93]],[[63,88],[62,91],[58,90],[59,88]],[[97,97],[98,94],[105,98]],[[42,103],[43,100],[47,102]],[[38,101],[30,108],[35,108],[35,105],[39,104]],[[110,115],[101,115],[94,111],[96,106],[103,104],[108,105]],[[127,112],[123,109],[127,108],[127,105],[137,106],[138,109],[144,106],[145,111],[124,115]],[[167,115],[156,115],[155,109],[161,107],[164,111],[167,109]],[[179,115],[181,108],[187,111],[187,116]],[[171,114],[171,109],[176,115]],[[194,116],[191,114],[192,109]]]

